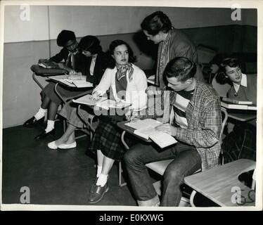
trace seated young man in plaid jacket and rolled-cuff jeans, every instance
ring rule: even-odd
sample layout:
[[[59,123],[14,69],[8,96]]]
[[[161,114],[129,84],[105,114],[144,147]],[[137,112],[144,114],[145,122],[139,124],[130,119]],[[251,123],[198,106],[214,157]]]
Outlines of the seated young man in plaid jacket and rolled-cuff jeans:
[[[139,143],[124,155],[125,165],[139,206],[178,206],[184,176],[219,163],[221,150],[221,106],[216,91],[198,82],[195,63],[188,58],[171,60],[165,69],[164,91],[149,115],[162,115],[157,131],[174,136],[177,143],[164,149]],[[160,107],[163,105],[163,110]],[[147,163],[173,159],[165,170],[161,201],[148,174]]]

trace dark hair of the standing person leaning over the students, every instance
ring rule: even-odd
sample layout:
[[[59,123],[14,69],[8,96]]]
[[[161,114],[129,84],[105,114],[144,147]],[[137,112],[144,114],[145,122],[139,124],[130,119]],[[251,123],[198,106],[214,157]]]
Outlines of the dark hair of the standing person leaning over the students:
[[[172,29],[171,20],[162,11],[148,15],[141,23],[141,29],[146,30],[150,35],[156,35],[160,31],[169,32]]]

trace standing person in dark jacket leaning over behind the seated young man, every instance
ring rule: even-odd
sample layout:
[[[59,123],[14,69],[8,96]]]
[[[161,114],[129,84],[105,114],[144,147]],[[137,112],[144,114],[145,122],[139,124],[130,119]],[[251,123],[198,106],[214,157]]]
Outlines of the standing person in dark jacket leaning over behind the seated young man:
[[[204,82],[203,73],[198,65],[198,54],[191,39],[186,34],[172,27],[168,16],[162,11],[148,15],[141,23],[141,29],[148,40],[159,44],[158,61],[155,75],[155,86],[165,89],[163,72],[167,63],[175,57],[186,57],[193,60],[197,66],[195,78]],[[155,90],[150,86],[149,90]],[[149,93],[150,94],[150,93]]]

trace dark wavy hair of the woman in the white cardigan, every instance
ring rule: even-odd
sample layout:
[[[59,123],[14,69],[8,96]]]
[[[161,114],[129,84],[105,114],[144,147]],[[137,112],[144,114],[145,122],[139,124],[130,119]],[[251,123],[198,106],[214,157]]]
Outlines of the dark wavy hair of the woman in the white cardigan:
[[[113,59],[113,53],[114,50],[117,46],[120,46],[124,44],[125,46],[127,46],[128,52],[129,52],[129,63],[134,63],[136,60],[136,57],[134,56],[134,52],[131,50],[131,47],[129,46],[129,44],[127,44],[127,42],[122,41],[122,40],[114,40],[113,42],[110,43],[110,47],[109,50],[107,51],[107,68],[115,68],[115,60]]]

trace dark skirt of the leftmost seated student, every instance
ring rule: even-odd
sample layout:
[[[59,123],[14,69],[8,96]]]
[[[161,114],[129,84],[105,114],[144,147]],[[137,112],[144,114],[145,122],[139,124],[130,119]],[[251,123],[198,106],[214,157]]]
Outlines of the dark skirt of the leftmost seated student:
[[[50,82],[44,87],[41,94],[44,94],[44,96],[48,96],[51,99],[51,101],[53,101],[57,105],[60,105],[62,103],[62,100],[55,92],[55,85],[56,83]],[[82,92],[86,91],[86,89],[75,89],[72,87],[62,85],[58,85],[57,90],[63,98],[73,98],[78,94],[81,94]]]

